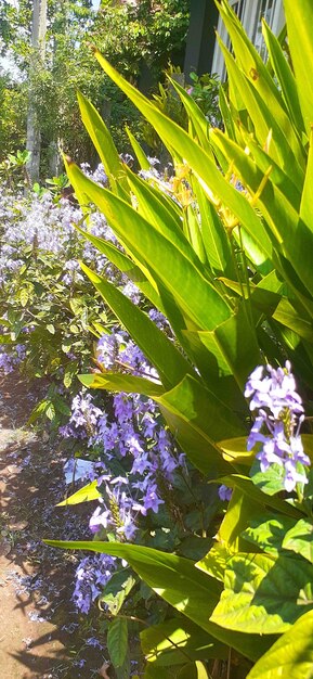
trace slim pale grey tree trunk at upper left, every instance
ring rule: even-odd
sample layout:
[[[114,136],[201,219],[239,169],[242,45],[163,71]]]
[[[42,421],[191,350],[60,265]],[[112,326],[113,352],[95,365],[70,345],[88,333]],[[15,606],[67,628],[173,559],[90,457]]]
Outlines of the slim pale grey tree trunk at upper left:
[[[32,183],[39,179],[40,119],[36,102],[36,85],[40,68],[44,64],[45,33],[47,0],[34,0],[26,141],[26,149],[31,153],[30,159],[27,163],[27,170]]]

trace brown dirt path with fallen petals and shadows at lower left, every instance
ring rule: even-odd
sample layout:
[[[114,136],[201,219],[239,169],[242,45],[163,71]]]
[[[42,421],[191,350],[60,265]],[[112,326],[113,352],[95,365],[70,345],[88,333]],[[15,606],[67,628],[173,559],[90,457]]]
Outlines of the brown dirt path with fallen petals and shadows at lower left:
[[[32,408],[29,385],[16,375],[0,379],[1,677],[93,677],[103,657],[89,653],[89,664],[94,649],[84,648],[81,627],[84,636],[93,630],[70,601],[77,556],[41,541],[77,539],[79,526],[70,509],[55,509],[65,491],[64,460],[25,428]]]

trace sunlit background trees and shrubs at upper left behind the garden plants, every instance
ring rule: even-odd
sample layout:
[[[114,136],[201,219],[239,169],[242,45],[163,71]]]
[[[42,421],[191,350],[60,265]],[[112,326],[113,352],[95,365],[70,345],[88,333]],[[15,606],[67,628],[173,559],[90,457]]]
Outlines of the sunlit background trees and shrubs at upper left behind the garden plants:
[[[25,145],[31,5],[29,0],[22,0],[17,9],[3,2],[0,10],[0,47],[12,63],[6,75],[5,60],[0,82],[4,108],[0,127],[2,161]],[[45,61],[43,67],[38,63],[31,85],[40,120],[43,177],[55,174],[57,143],[65,144],[73,157],[96,164],[93,146],[80,123],[77,89],[109,119],[120,152],[126,152],[128,144],[123,124],[138,126],[135,108],[96,65],[90,46],[96,44],[134,82],[151,90],[169,60],[182,65],[187,23],[187,0],[120,5],[104,2],[97,12],[90,0],[48,1]]]

